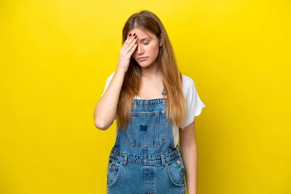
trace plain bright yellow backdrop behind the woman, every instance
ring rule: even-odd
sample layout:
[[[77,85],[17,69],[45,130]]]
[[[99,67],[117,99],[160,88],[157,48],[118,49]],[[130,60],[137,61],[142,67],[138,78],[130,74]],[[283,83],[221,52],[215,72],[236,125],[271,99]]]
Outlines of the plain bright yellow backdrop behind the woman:
[[[143,9],[206,105],[198,194],[290,194],[289,0],[1,1],[0,193],[106,193],[116,123],[93,111]]]

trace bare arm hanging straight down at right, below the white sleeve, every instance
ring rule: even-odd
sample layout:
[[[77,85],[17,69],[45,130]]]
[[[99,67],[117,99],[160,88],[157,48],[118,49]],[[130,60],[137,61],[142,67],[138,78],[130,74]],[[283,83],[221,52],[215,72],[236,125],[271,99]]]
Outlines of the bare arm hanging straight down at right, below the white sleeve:
[[[197,146],[195,120],[184,130],[179,129],[181,157],[185,167],[188,194],[197,192]]]

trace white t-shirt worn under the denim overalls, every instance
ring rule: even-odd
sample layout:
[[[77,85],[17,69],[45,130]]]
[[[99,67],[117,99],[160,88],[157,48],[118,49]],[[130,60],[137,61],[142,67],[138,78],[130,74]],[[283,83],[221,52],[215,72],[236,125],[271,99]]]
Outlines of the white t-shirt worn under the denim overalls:
[[[101,97],[104,95],[106,89],[108,88],[109,83],[112,80],[114,73],[115,72],[113,72],[107,78],[104,92],[101,95]],[[182,79],[183,79],[183,94],[184,94],[184,97],[186,99],[186,121],[184,123],[184,126],[172,125],[175,146],[177,146],[178,140],[179,140],[179,128],[187,127],[188,125],[190,125],[194,121],[194,117],[198,116],[201,113],[202,109],[205,107],[205,105],[200,100],[200,98],[197,94],[194,81],[190,77],[185,76],[185,75],[182,75]],[[138,96],[135,96],[134,99],[141,99],[141,98]],[[115,116],[115,120],[116,119],[117,119],[117,113]],[[117,137],[117,132],[118,132],[118,127],[116,127],[115,140]]]

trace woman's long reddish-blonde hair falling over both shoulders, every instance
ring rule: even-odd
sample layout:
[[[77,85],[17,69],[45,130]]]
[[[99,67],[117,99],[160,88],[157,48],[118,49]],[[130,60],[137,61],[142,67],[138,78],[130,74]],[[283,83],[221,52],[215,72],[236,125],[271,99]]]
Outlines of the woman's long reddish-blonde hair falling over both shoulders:
[[[158,66],[162,75],[166,92],[167,122],[178,126],[186,119],[186,101],[182,91],[182,74],[178,69],[174,50],[168,34],[161,20],[154,13],[143,10],[128,18],[122,30],[122,45],[127,34],[134,28],[140,28],[155,34],[162,46],[158,55]],[[131,106],[135,95],[141,90],[141,67],[133,56],[130,58],[129,67],[124,76],[117,105],[116,124],[120,129],[126,129],[127,122],[131,122]]]

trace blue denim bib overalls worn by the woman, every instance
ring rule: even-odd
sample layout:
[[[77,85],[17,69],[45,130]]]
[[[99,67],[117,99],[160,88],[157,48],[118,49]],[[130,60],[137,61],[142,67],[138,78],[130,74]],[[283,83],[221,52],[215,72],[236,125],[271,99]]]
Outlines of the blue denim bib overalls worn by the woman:
[[[107,194],[185,194],[184,164],[166,121],[166,98],[132,100],[131,123],[118,129],[109,155]]]

